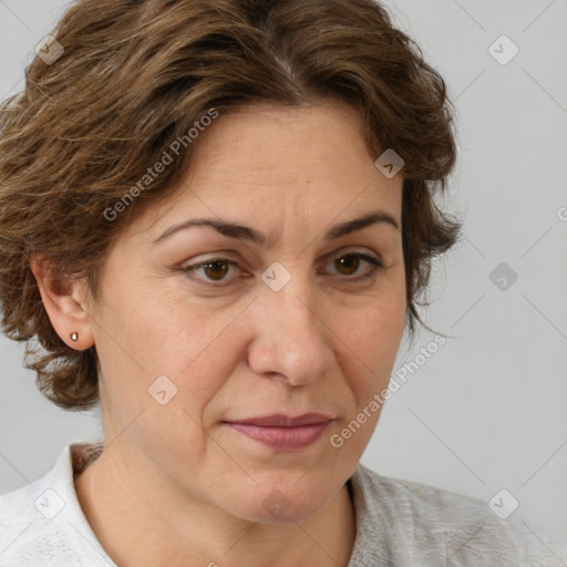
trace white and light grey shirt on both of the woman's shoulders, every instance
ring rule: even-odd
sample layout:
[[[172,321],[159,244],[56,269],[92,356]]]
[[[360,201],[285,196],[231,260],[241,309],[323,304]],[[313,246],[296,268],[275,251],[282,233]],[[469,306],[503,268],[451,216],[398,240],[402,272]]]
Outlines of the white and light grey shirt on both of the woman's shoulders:
[[[100,440],[71,443],[49,473],[0,496],[0,567],[116,567],[74,486],[74,476],[102,446]],[[383,476],[362,464],[347,485],[357,518],[348,567],[567,566],[567,544],[517,512],[501,519],[484,501]]]

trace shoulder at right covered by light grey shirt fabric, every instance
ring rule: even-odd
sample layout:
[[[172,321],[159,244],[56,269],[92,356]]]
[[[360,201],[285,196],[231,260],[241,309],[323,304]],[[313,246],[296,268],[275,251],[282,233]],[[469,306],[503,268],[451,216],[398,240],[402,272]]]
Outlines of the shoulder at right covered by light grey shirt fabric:
[[[567,545],[517,509],[509,513],[506,497],[491,508],[483,499],[380,475],[363,465],[352,480],[367,535],[372,526],[380,528],[389,542],[411,548],[408,553],[420,565],[567,565]]]

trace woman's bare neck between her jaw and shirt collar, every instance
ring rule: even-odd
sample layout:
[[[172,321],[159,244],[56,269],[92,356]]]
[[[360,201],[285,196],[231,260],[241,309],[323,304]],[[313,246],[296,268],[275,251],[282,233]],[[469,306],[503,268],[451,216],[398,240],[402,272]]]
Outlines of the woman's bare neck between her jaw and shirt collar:
[[[346,484],[313,516],[287,524],[228,514],[187,495],[148,464],[125,466],[113,452],[89,465],[75,487],[96,538],[121,567],[347,567],[354,545]]]

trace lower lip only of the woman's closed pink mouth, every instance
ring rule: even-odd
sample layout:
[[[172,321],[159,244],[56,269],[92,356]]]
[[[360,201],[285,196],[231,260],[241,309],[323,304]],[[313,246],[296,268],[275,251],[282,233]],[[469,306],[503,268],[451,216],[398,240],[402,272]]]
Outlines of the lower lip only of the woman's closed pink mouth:
[[[305,449],[315,443],[329,426],[330,421],[300,425],[297,427],[260,427],[244,423],[228,423],[230,427],[259,441],[265,445],[279,450]]]

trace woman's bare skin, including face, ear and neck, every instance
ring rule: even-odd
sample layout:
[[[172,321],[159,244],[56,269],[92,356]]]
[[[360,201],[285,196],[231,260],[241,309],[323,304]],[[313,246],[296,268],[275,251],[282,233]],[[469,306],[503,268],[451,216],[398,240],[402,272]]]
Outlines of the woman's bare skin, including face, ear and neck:
[[[377,209],[401,226],[401,174],[377,169],[360,126],[352,109],[328,101],[220,115],[195,142],[175,195],[114,244],[100,302],[85,280],[53,286],[32,262],[61,338],[96,346],[105,450],[75,486],[118,565],[348,565],[355,520],[346,482],[380,411],[340,449],[330,437],[388,385],[406,315],[399,229],[381,223],[323,240]],[[252,227],[274,245],[207,227],[152,244],[199,217]],[[347,252],[385,268],[354,282],[371,265],[341,265]],[[178,269],[216,256],[237,266]],[[276,261],[291,276],[279,291],[261,279]],[[148,394],[163,374],[177,388],[165,405]],[[293,452],[223,423],[306,412],[334,420]],[[275,489],[289,505],[279,517],[264,506]]]

